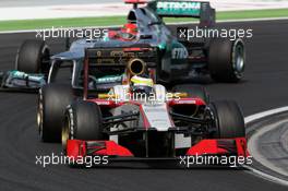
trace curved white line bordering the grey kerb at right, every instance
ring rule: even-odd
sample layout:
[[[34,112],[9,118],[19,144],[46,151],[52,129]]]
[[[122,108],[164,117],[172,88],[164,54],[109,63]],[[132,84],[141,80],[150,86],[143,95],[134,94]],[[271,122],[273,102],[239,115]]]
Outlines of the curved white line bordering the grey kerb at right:
[[[285,111],[288,111],[288,106],[276,108],[276,109],[266,110],[266,111],[259,112],[259,114],[255,114],[255,115],[252,115],[252,116],[248,116],[248,117],[244,118],[244,120],[245,120],[245,123],[249,123],[249,122],[252,122],[252,121],[255,121],[255,120],[259,120],[259,119],[263,119],[263,118],[272,116],[272,115],[285,112]],[[251,155],[253,156],[252,153],[251,153]],[[255,168],[253,168],[251,166],[243,165],[243,167],[249,169],[249,170],[251,170],[253,174],[255,174],[255,175],[257,175],[260,177],[263,177],[264,179],[267,179],[267,180],[271,180],[273,182],[276,182],[276,183],[279,183],[279,184],[288,187],[288,181],[287,180],[284,180],[284,179],[277,178],[277,177],[273,177],[273,176],[271,176],[268,174],[265,174],[263,171],[260,171],[260,170],[257,170],[257,169],[255,169]],[[267,167],[267,168],[269,168],[269,167]],[[275,169],[272,169],[272,170],[277,172],[277,170],[275,170]]]

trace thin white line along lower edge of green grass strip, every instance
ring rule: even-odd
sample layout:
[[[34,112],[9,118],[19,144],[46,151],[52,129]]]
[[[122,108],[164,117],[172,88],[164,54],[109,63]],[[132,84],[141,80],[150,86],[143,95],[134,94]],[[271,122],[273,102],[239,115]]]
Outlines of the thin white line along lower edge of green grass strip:
[[[220,20],[217,23],[236,23],[236,22],[254,22],[254,21],[280,21],[288,20],[288,17],[263,17],[263,19],[245,19],[245,20]],[[179,22],[179,23],[168,23],[168,25],[181,25],[181,24],[196,24],[199,22]],[[110,26],[83,26],[83,27],[55,27],[55,28],[70,28],[70,29],[79,29],[79,28],[108,28],[108,27],[120,27],[121,25],[110,25]],[[21,29],[21,31],[4,31],[0,32],[0,34],[20,34],[20,33],[36,33],[37,31],[51,31],[51,28],[37,28],[37,29]]]

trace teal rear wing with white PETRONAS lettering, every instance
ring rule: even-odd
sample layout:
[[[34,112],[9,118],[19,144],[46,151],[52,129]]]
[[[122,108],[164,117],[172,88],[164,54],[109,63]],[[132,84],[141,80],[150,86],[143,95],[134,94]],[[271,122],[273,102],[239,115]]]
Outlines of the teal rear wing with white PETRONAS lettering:
[[[208,1],[158,0],[149,2],[148,8],[160,17],[195,17],[200,19],[201,26],[215,24],[215,9]]]

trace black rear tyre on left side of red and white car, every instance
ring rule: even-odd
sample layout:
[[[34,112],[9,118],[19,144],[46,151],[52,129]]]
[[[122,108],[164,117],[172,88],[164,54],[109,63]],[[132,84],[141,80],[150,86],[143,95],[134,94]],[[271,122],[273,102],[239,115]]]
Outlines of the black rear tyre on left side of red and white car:
[[[64,111],[73,99],[69,85],[48,84],[39,91],[37,123],[43,142],[61,142]]]

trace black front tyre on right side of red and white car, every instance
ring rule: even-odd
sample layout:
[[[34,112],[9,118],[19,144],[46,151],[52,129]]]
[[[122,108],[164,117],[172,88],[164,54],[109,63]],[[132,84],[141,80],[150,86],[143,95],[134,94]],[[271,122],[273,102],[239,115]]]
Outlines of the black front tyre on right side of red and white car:
[[[216,139],[230,139],[245,136],[245,124],[241,109],[236,102],[220,100],[211,104],[214,116]]]

